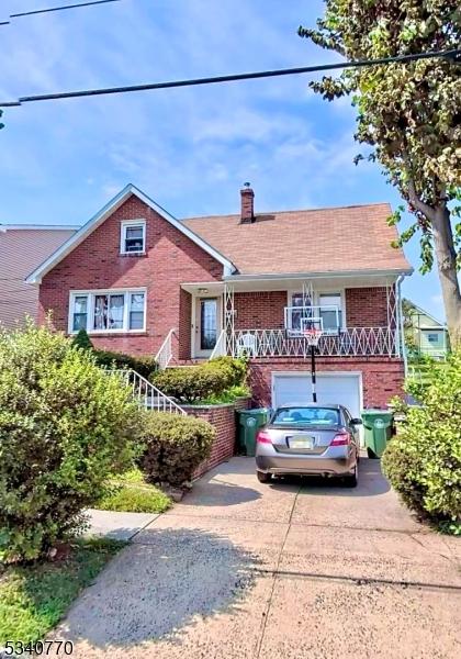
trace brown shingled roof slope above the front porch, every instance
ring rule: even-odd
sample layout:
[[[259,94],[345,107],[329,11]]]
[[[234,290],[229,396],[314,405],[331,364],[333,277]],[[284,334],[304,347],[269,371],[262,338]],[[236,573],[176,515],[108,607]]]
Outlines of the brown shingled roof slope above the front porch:
[[[260,213],[251,224],[239,215],[191,217],[183,224],[225,254],[240,275],[369,271],[409,273],[386,219],[387,203]]]

